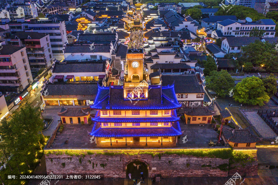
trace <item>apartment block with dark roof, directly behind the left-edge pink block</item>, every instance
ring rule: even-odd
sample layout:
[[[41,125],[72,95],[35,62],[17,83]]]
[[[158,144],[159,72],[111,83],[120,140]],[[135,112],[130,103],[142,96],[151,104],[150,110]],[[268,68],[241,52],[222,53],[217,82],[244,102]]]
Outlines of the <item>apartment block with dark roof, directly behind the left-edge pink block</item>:
[[[8,44],[26,47],[32,70],[49,67],[53,63],[53,54],[49,35],[38,32],[16,32],[6,39]]]

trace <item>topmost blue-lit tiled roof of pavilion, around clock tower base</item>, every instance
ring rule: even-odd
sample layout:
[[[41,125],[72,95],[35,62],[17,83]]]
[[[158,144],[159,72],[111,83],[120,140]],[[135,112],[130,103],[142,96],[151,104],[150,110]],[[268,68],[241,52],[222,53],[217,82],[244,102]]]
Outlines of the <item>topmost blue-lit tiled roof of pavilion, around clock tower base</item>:
[[[92,109],[100,110],[158,110],[158,109],[176,109],[181,105],[178,103],[175,93],[166,91],[174,90],[172,86],[149,86],[148,99],[132,100],[124,99],[123,86],[100,87]],[[162,93],[161,93],[162,92]],[[109,97],[110,95],[110,97]],[[108,102],[108,100],[110,100]],[[137,103],[136,103],[137,102]]]

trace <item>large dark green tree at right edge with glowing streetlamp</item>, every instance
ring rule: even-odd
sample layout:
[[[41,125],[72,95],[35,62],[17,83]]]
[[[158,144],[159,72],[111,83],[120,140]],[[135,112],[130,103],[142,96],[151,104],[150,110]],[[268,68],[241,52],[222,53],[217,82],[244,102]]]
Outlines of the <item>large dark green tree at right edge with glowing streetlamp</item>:
[[[255,40],[254,43],[242,47],[240,61],[251,62],[255,68],[263,67],[267,72],[278,72],[278,55],[273,44]],[[263,66],[262,66],[263,65]]]

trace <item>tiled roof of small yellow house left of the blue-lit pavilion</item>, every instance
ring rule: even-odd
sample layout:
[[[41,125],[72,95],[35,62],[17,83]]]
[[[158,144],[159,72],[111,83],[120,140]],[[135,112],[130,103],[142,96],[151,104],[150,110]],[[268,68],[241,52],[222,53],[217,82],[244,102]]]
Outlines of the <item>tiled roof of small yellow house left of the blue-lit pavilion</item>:
[[[58,116],[63,117],[82,117],[88,116],[91,112],[90,108],[64,108],[62,107],[60,112],[57,112]]]

